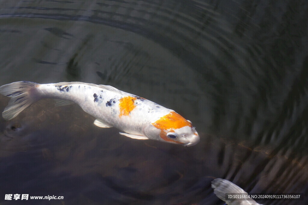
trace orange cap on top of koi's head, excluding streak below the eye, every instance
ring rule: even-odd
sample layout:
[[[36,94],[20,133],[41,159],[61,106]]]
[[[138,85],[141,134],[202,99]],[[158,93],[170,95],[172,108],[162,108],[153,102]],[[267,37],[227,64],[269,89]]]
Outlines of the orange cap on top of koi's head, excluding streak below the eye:
[[[156,122],[152,123],[152,125],[160,130],[179,129],[185,126],[192,127],[190,122],[176,112],[169,112],[168,115],[162,116]]]

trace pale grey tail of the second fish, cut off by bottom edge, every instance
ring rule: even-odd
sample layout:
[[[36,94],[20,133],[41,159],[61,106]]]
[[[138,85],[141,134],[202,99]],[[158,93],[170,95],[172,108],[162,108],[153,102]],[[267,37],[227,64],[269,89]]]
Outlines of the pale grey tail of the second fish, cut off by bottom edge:
[[[214,194],[216,196],[225,201],[226,204],[232,205],[258,205],[259,203],[255,202],[253,199],[245,200],[245,199],[237,199],[230,200],[225,198],[226,193],[241,193],[241,195],[248,195],[246,191],[244,191],[241,187],[235,185],[234,183],[226,180],[226,179],[214,179],[212,181],[212,188],[214,189]],[[260,204],[259,204],[260,205]]]

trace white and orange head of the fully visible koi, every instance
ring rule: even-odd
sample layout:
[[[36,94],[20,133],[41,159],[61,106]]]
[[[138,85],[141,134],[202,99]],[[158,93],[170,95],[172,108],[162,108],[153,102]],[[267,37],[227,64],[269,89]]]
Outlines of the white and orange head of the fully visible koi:
[[[170,112],[148,125],[144,129],[144,134],[149,139],[183,146],[193,146],[200,141],[200,136],[192,123],[176,112]]]

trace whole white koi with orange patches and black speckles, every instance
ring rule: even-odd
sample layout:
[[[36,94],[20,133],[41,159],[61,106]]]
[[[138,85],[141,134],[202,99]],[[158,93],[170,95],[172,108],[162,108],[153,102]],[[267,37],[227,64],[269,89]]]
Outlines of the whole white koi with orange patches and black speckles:
[[[124,131],[119,132],[121,135],[133,139],[151,139],[183,146],[192,146],[200,141],[192,122],[175,111],[110,85],[19,81],[2,85],[0,93],[11,98],[2,112],[5,120],[13,119],[42,98],[54,98],[56,106],[79,104],[96,118],[96,126],[118,128]]]

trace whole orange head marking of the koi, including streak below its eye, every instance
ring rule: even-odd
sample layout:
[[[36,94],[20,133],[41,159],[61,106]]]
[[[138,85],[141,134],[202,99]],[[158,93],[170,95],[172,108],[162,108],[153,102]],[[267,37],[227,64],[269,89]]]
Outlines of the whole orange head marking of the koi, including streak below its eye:
[[[179,129],[185,126],[192,127],[192,124],[185,120],[184,117],[180,116],[176,112],[169,112],[168,115],[162,116],[160,119],[156,120],[156,122],[152,123],[152,125],[158,129],[160,129],[160,138],[169,141],[175,142],[178,144],[183,144],[177,140],[173,140],[167,137],[167,130],[170,132],[174,132],[173,129]]]

